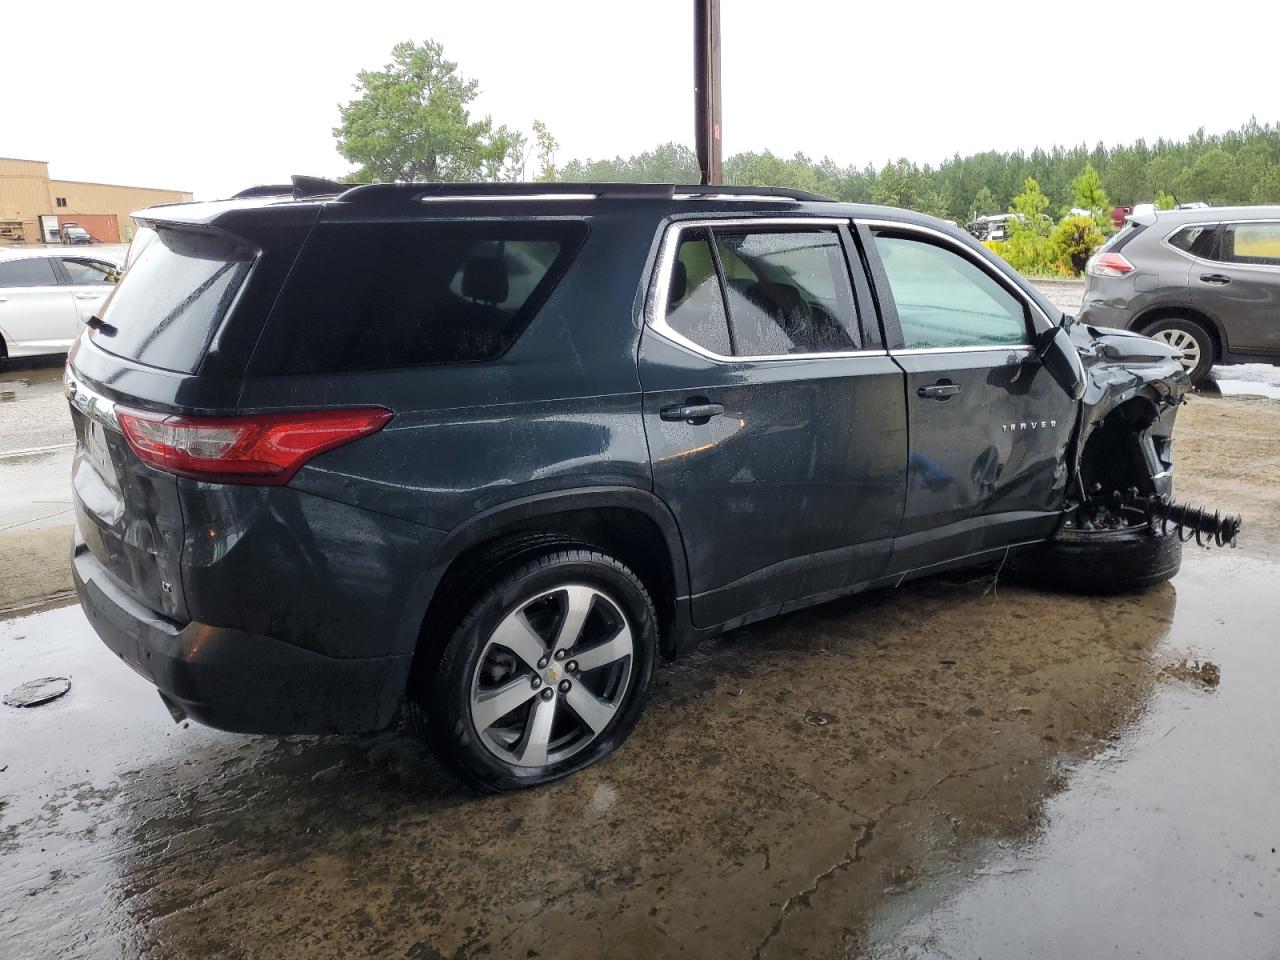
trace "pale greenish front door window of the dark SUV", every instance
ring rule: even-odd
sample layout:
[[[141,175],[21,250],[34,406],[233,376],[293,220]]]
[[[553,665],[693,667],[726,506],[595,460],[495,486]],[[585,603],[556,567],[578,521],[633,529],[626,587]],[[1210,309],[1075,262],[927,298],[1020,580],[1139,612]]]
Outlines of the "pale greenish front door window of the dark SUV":
[[[909,349],[1027,343],[1023,305],[968,257],[902,237],[876,248]]]

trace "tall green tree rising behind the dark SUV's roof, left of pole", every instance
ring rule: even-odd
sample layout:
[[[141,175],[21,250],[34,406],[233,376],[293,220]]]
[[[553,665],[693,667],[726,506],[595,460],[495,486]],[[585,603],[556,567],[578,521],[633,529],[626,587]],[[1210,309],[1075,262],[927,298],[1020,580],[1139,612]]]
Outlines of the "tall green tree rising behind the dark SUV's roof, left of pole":
[[[467,110],[479,83],[458,73],[435,41],[404,41],[380,70],[356,76],[356,99],[338,108],[338,152],[351,179],[494,180],[522,173],[525,138]]]

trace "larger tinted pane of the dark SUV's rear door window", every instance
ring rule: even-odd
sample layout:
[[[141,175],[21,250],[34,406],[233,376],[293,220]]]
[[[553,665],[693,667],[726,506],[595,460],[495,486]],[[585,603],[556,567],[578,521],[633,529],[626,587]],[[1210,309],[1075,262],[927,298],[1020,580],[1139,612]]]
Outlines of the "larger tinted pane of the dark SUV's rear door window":
[[[835,230],[714,230],[739,356],[859,348],[854,293]]]

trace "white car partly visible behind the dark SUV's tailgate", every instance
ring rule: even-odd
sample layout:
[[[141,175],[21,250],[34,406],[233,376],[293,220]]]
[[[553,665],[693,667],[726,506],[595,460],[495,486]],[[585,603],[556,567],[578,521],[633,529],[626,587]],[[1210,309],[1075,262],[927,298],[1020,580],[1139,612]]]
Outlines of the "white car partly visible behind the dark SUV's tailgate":
[[[119,278],[101,257],[0,251],[0,358],[65,353]]]

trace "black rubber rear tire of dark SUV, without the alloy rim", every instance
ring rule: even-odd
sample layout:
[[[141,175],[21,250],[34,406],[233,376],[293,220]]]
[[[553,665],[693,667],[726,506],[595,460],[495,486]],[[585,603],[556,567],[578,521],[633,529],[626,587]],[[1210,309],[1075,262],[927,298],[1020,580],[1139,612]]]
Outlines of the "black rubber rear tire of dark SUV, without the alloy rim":
[[[471,721],[476,662],[485,641],[508,613],[566,584],[586,584],[602,590],[626,614],[634,643],[630,689],[617,716],[586,748],[549,767],[516,767],[489,751]],[[541,554],[508,571],[471,607],[449,639],[434,676],[421,678],[415,692],[429,698],[420,704],[426,721],[424,732],[442,760],[483,788],[515,790],[559,780],[595,763],[626,740],[644,709],[657,650],[653,602],[630,570],[589,549]]]

